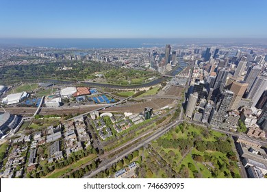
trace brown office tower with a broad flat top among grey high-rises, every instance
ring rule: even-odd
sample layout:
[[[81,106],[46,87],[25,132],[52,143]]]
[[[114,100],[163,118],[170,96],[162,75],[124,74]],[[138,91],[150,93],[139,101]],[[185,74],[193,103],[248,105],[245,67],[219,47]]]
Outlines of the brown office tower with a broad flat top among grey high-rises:
[[[230,104],[230,109],[231,110],[235,110],[235,109],[238,109],[238,104],[239,102],[241,101],[245,91],[246,91],[246,87],[248,86],[249,84],[246,83],[246,82],[233,82],[231,84],[231,88],[230,90],[233,91],[233,100]]]

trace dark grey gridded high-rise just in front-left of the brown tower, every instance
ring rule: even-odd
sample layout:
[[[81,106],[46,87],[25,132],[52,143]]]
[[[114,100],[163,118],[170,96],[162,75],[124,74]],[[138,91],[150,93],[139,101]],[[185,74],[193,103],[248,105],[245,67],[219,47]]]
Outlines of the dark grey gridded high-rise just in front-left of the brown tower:
[[[221,96],[220,106],[218,107],[218,111],[214,113],[212,116],[212,120],[210,121],[211,125],[219,126],[222,125],[223,121],[226,118],[227,111],[230,109],[229,106],[231,101],[233,100],[233,91],[224,91]]]

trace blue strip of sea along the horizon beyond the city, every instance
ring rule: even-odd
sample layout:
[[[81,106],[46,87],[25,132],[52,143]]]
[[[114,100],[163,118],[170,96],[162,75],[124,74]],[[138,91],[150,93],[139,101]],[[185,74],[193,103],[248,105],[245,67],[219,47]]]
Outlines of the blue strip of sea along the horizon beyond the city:
[[[164,47],[185,44],[257,44],[267,45],[264,38],[0,38],[0,45],[16,45],[25,47],[108,49],[108,48],[140,48]]]

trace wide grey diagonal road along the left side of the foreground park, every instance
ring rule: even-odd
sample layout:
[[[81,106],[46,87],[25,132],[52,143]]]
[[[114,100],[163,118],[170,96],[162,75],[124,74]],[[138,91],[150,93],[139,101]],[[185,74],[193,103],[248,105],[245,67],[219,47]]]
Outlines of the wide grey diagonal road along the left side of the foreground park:
[[[142,143],[134,145],[130,149],[127,149],[127,151],[118,154],[118,156],[111,158],[110,160],[106,160],[104,165],[101,164],[96,170],[92,171],[91,173],[87,173],[83,178],[92,178],[93,176],[97,175],[97,173],[104,171],[105,169],[107,169],[107,167],[110,167],[112,164],[116,163],[121,158],[124,158],[125,156],[131,154],[140,147],[149,144],[151,141],[157,139],[158,137],[168,132],[170,128],[173,128],[175,125],[179,125],[179,123],[182,122],[183,122],[182,120],[175,121],[175,123],[171,123],[166,128],[155,131],[151,136],[147,137],[144,141],[142,141]]]

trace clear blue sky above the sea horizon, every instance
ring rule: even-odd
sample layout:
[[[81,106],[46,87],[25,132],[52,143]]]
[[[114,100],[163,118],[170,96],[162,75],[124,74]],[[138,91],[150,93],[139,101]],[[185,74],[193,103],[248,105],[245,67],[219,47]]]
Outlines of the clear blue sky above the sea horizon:
[[[266,0],[1,0],[0,38],[267,38]]]

